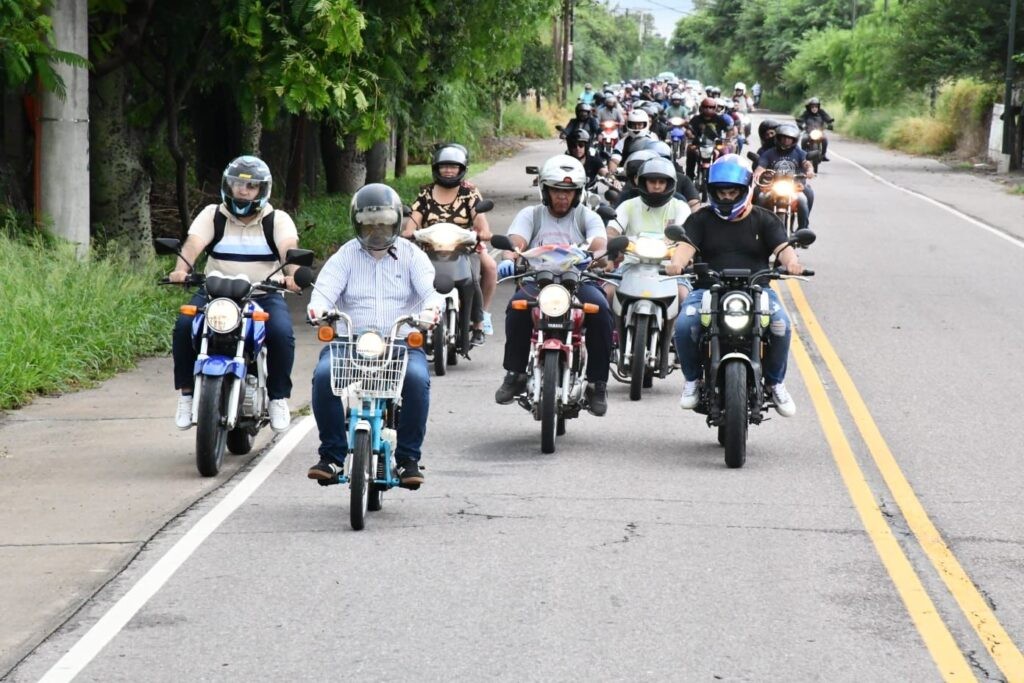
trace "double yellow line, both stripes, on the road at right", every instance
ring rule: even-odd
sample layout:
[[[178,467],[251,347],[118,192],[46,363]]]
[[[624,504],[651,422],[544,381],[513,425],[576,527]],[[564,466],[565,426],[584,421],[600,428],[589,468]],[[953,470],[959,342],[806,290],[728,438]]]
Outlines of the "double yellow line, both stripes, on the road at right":
[[[985,649],[992,656],[1008,681],[1024,681],[1024,655],[1011,640],[1010,635],[995,617],[984,597],[968,577],[964,567],[949,550],[942,535],[925,512],[921,501],[914,495],[906,477],[896,464],[892,452],[882,437],[878,425],[871,418],[860,392],[850,379],[849,373],[839,359],[828,338],[818,325],[817,317],[804,297],[800,284],[786,281],[790,296],[800,311],[803,330],[814,342],[825,367],[839,387],[843,400],[850,411],[861,438],[867,445],[871,459],[882,473],[889,492],[899,506],[900,512],[928,556],[935,570],[945,583],[956,604],[981,639]],[[953,639],[935,604],[921,583],[910,560],[900,548],[892,528],[874,501],[863,471],[850,447],[850,442],[840,425],[839,417],[825,392],[817,369],[811,361],[800,336],[794,331],[793,353],[797,366],[807,384],[811,400],[818,414],[818,422],[824,431],[843,481],[846,483],[854,506],[867,530],[882,563],[889,571],[896,590],[921,633],[932,658],[945,680],[976,680],[974,671]]]

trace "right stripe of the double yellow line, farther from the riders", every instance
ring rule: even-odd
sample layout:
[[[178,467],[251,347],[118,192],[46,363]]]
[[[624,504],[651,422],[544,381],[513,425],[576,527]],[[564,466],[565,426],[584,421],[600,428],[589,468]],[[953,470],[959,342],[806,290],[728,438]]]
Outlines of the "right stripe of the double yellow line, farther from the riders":
[[[981,638],[985,649],[992,655],[1007,680],[1024,681],[1024,655],[1021,655],[1021,651],[1014,644],[1002,625],[999,624],[988,602],[985,601],[974,582],[968,577],[967,571],[961,566],[959,561],[942,539],[942,535],[932,523],[928,513],[925,512],[925,508],[918,500],[913,488],[910,487],[910,483],[906,480],[899,465],[896,464],[896,459],[882,437],[882,432],[879,431],[879,427],[868,412],[863,398],[861,398],[860,392],[857,391],[849,373],[828,342],[821,326],[818,325],[799,283],[790,280],[786,281],[786,284],[793,301],[803,318],[804,327],[814,340],[828,372],[836,379],[843,399],[850,409],[850,414],[860,431],[860,436],[867,444],[867,450],[910,530],[916,537],[928,559],[942,578],[946,588],[956,600],[956,604],[959,605],[961,610],[971,623],[975,633]]]

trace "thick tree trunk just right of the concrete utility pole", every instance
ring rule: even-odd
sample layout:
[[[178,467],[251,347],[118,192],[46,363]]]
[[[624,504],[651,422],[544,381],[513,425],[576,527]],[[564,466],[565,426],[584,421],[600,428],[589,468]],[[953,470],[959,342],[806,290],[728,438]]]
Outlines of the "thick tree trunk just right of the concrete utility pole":
[[[142,166],[138,131],[128,123],[127,71],[122,67],[93,81],[90,191],[93,231],[124,246],[134,258],[152,249],[152,180]]]

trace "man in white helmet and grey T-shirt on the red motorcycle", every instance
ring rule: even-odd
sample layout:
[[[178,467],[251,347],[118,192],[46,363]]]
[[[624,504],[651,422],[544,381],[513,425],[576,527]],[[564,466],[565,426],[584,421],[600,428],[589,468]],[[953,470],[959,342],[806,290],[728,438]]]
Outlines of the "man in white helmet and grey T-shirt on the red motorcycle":
[[[607,245],[607,231],[601,217],[581,204],[586,173],[583,165],[571,157],[559,155],[541,168],[542,204],[522,209],[512,220],[508,237],[519,251],[545,245],[589,243],[592,251]],[[506,261],[499,267],[501,276],[514,272],[514,264]],[[505,309],[506,375],[495,393],[495,401],[511,403],[526,388],[526,365],[529,360],[530,336],[534,323],[529,311],[513,310],[512,301],[537,295],[532,283],[524,283]],[[602,416],[608,410],[607,382],[611,361],[611,310],[599,287],[583,283],[577,297],[584,303],[594,303],[599,312],[589,314],[587,329],[587,398],[593,415]]]

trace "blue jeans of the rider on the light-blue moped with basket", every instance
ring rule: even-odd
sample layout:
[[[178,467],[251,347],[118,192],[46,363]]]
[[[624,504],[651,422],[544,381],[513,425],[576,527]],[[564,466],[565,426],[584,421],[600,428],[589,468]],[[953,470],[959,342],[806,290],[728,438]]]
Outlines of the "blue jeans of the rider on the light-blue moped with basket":
[[[331,390],[331,347],[321,351],[313,371],[313,417],[319,430],[319,455],[339,465],[348,453],[348,428],[341,398]],[[427,414],[430,411],[430,375],[427,355],[422,348],[409,349],[409,367],[401,388],[401,411],[398,413],[398,447],[395,461],[420,461],[420,447],[427,434]]]

